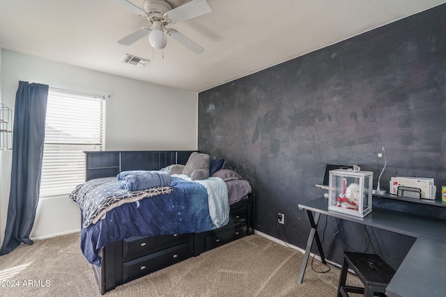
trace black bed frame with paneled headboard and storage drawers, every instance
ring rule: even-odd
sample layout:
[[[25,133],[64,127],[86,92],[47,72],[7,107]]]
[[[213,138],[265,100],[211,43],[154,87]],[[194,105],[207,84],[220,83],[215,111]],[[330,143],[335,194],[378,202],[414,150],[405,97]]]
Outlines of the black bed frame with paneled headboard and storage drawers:
[[[171,164],[185,164],[192,152],[85,152],[86,180],[116,176],[125,170],[158,170]],[[191,234],[135,236],[109,243],[102,250],[100,267],[93,265],[100,294],[250,234],[254,234],[253,194],[231,205],[229,223],[219,229]]]

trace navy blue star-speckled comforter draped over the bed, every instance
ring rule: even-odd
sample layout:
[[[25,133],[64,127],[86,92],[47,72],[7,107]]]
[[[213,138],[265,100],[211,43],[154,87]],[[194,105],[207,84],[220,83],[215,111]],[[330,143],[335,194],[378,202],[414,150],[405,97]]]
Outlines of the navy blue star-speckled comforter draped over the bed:
[[[82,228],[81,249],[86,259],[100,266],[101,248],[126,237],[198,233],[217,228],[210,216],[205,186],[177,177],[172,177],[170,186],[174,191],[169,194],[122,204],[108,211],[98,223]],[[229,220],[229,203],[222,204],[224,216],[227,212],[228,217],[220,225]]]

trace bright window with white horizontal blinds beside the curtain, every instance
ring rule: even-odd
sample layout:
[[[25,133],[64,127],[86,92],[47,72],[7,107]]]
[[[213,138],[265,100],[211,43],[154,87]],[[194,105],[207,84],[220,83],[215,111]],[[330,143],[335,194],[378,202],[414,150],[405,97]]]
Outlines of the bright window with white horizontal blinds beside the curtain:
[[[84,151],[104,147],[104,108],[103,97],[49,89],[40,198],[85,182]]]

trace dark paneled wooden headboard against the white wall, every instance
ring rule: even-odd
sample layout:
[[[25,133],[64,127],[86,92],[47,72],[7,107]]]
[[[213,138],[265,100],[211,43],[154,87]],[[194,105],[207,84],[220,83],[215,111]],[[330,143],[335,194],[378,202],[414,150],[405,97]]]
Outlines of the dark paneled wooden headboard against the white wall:
[[[193,150],[179,151],[88,151],[85,180],[113,177],[126,170],[159,170],[185,164]]]

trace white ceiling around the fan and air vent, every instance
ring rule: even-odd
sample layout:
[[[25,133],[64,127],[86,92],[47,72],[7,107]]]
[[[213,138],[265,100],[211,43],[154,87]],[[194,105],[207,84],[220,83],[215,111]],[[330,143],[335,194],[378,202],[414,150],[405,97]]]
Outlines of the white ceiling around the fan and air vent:
[[[0,47],[198,93],[445,2],[208,0],[211,13],[170,25],[205,49],[194,54],[171,38],[164,51],[147,38],[119,45],[148,21],[111,0],[0,0]],[[123,54],[150,62],[125,64]]]

